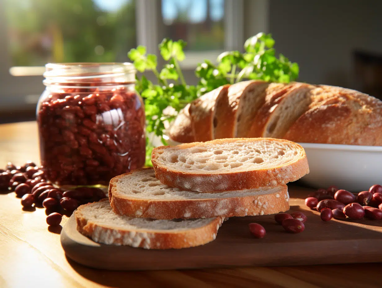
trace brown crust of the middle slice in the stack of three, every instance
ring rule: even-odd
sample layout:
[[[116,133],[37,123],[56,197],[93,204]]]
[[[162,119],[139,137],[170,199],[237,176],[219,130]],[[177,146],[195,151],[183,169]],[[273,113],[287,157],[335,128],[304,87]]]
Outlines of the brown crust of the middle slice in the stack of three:
[[[114,177],[109,185],[110,205],[113,211],[120,215],[154,219],[187,219],[269,215],[289,210],[289,195],[286,185],[280,185],[277,193],[246,197],[189,200],[138,199],[118,193],[116,188],[118,179],[129,174],[131,172]]]

